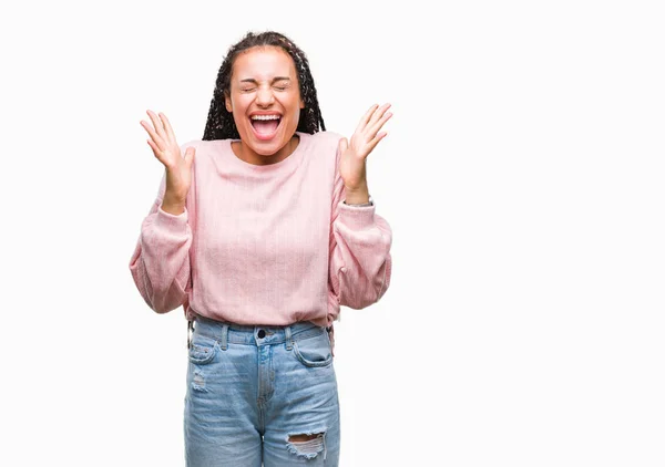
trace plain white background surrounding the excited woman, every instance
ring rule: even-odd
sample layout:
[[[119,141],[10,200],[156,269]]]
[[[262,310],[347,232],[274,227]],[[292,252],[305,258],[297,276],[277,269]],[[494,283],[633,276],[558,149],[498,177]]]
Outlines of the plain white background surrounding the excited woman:
[[[433,4],[434,2],[432,2]],[[341,466],[665,465],[658,2],[2,7],[3,466],[182,466],[185,320],[129,260],[227,48],[307,53],[369,158],[392,283],[336,326]]]

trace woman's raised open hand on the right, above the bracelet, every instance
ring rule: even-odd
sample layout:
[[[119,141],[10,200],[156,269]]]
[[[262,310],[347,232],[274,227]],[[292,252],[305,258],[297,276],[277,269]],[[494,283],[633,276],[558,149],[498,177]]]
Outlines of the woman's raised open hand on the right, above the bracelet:
[[[339,141],[339,151],[341,152],[339,175],[344,180],[347,194],[367,191],[365,162],[369,153],[388,134],[379,131],[392,116],[392,113],[387,112],[389,107],[390,104],[383,104],[380,107],[377,104],[372,105],[360,120],[351,141],[347,142],[347,138]]]

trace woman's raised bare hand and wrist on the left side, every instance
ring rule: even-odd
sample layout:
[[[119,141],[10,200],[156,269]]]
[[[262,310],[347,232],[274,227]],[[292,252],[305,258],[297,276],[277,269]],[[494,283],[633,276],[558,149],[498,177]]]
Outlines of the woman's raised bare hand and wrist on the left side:
[[[182,157],[180,146],[175,141],[175,134],[166,115],[160,113],[157,116],[152,111],[147,111],[147,115],[154,128],[144,121],[141,121],[141,126],[145,128],[151,137],[151,139],[147,139],[147,144],[153,154],[166,168],[166,190],[162,209],[178,215],[185,209],[187,193],[190,193],[192,186],[192,163],[194,162],[195,149],[187,147],[185,157]]]

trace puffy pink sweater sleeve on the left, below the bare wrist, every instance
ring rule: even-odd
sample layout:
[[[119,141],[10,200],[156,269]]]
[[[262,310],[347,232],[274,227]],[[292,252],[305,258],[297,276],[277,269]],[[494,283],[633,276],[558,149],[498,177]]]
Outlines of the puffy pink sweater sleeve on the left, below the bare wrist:
[[[190,247],[192,230],[188,211],[178,216],[162,210],[165,177],[143,220],[141,235],[130,260],[134,283],[143,300],[157,313],[166,313],[185,304],[190,279]]]

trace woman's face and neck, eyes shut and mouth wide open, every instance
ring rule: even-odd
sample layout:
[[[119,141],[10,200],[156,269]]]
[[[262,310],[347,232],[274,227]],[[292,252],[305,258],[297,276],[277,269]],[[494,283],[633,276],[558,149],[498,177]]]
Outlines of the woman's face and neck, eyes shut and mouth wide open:
[[[300,98],[296,66],[278,46],[256,46],[241,53],[233,63],[226,110],[233,113],[249,162],[290,154],[288,144],[298,127]]]

